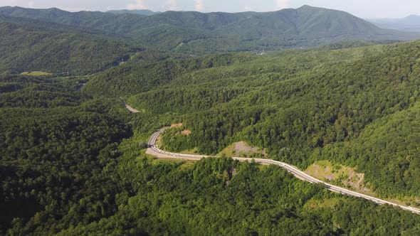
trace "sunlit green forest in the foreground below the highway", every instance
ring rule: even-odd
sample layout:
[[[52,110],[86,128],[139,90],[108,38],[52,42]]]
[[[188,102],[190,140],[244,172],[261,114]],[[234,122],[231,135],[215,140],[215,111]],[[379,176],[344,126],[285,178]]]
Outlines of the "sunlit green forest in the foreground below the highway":
[[[399,235],[419,232],[417,215],[328,192],[278,166],[205,159],[182,163],[137,159],[137,191],[111,218],[62,235]],[[130,166],[125,166],[125,175]],[[337,200],[330,208],[306,207]]]

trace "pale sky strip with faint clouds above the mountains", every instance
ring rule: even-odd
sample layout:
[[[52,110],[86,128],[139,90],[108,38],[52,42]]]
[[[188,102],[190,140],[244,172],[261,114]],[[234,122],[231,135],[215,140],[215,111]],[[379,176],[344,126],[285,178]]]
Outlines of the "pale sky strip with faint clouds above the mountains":
[[[419,0],[0,0],[0,6],[57,7],[67,11],[150,9],[152,11],[277,11],[303,5],[350,12],[362,18],[420,14]]]

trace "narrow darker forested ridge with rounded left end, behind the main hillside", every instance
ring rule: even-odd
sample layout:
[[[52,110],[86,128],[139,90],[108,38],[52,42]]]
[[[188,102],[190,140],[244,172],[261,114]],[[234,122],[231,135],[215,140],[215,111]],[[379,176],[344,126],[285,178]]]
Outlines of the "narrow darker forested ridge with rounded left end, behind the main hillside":
[[[94,75],[83,91],[94,95],[127,96],[164,85],[179,75],[203,68],[219,68],[252,60],[249,55],[220,54],[203,58],[163,60],[158,63],[127,63]],[[135,63],[133,63],[135,64]]]

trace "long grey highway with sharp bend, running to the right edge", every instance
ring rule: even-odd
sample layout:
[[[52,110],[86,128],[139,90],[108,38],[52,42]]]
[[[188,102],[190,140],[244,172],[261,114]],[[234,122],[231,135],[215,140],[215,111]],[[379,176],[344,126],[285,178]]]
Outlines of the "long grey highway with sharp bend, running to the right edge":
[[[168,152],[168,151],[163,151],[161,149],[158,148],[158,146],[156,145],[156,141],[157,138],[160,136],[160,134],[162,134],[162,132],[165,131],[165,129],[160,129],[157,132],[154,132],[154,134],[152,134],[152,136],[150,136],[149,139],[149,149],[147,149],[146,153],[150,154],[150,155],[154,155],[157,156],[159,158],[169,158],[169,159],[183,159],[183,160],[195,160],[198,161],[200,159],[204,159],[207,157],[211,157],[211,156],[204,156],[204,155],[190,155],[190,154],[175,154],[172,152]],[[341,193],[341,194],[347,194],[347,195],[352,195],[358,198],[364,198],[367,200],[372,200],[377,204],[389,204],[389,205],[394,205],[394,206],[398,206],[404,210],[409,210],[412,213],[417,213],[420,214],[420,209],[418,208],[412,208],[406,205],[399,205],[397,203],[391,203],[387,200],[382,200],[379,198],[374,198],[372,196],[369,195],[365,195],[362,193],[357,193],[355,191],[350,191],[346,188],[342,188],[339,186],[333,186],[330,183],[325,183],[324,181],[320,181],[317,178],[314,178],[313,176],[308,175],[307,173],[300,171],[300,169],[296,168],[295,166],[291,166],[287,163],[283,163],[280,161],[274,161],[271,159],[251,159],[251,158],[242,158],[242,157],[232,157],[233,160],[238,160],[238,161],[255,161],[257,163],[261,163],[263,165],[277,165],[280,166],[281,168],[284,168],[286,171],[288,171],[289,173],[292,173],[295,177],[299,178],[300,180],[303,181],[308,181],[310,183],[322,183],[325,188],[327,188],[328,190],[335,192],[335,193]]]

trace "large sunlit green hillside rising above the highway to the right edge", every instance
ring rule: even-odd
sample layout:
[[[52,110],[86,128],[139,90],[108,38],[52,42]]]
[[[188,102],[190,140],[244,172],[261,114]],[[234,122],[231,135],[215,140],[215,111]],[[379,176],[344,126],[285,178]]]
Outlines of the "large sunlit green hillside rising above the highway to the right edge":
[[[181,130],[189,129],[191,135],[174,135],[179,129],[169,132],[163,139],[169,151],[217,154],[236,141],[247,141],[266,149],[271,159],[301,168],[324,159],[357,167],[377,194],[415,197],[415,180],[420,178],[412,161],[418,155],[416,129],[410,128],[415,123],[401,127],[410,130],[406,141],[392,141],[404,136],[399,130],[377,134],[383,145],[393,146],[381,151],[369,149],[379,140],[367,130],[379,132],[382,120],[408,116],[399,112],[411,111],[415,117],[419,48],[416,41],[263,56],[222,54],[144,66],[128,63],[93,77],[85,92],[138,93],[127,100],[137,109],[177,114],[184,124]],[[401,159],[409,161],[401,166]]]

